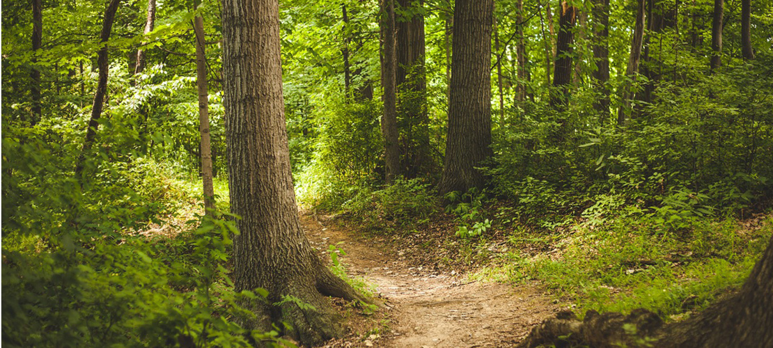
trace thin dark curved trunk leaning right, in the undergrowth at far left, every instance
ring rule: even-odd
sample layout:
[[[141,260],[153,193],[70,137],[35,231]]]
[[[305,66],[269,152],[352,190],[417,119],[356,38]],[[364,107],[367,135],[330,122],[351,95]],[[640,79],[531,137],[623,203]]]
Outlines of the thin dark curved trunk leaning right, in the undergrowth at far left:
[[[107,40],[110,39],[115,12],[118,10],[120,3],[121,0],[110,0],[110,3],[107,4],[107,8],[104,10],[104,20],[102,21],[102,31],[100,32],[100,44],[102,46],[97,54],[97,67],[99,69],[97,91],[94,93],[94,103],[91,106],[91,118],[86,130],[86,138],[83,140],[83,148],[80,150],[80,155],[75,162],[75,176],[79,179],[81,186],[83,186],[83,178],[81,177],[83,162],[85,162],[87,152],[94,145],[94,138],[97,136],[97,128],[99,128],[99,118],[102,116],[102,105],[104,104],[105,95],[107,95],[107,74],[110,70],[107,60]]]

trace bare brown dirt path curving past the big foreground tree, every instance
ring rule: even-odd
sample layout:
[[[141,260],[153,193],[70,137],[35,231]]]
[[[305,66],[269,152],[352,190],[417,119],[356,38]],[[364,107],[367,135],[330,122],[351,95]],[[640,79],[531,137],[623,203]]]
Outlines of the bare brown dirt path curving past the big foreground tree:
[[[468,281],[450,270],[410,264],[386,241],[356,236],[308,214],[301,215],[301,221],[312,245],[323,251],[337,245],[346,252],[342,261],[349,275],[365,278],[386,299],[383,310],[390,312],[390,331],[376,340],[340,346],[513,346],[532,326],[557,312],[534,286]]]

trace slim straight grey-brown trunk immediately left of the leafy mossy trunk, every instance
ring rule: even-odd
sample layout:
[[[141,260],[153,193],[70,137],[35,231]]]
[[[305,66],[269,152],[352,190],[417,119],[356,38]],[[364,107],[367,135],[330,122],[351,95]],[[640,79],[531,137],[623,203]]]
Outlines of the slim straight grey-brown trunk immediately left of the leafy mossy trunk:
[[[384,114],[381,133],[384,138],[386,183],[391,184],[400,176],[400,139],[397,131],[397,56],[395,52],[394,0],[383,0],[381,17],[381,86],[383,88]]]

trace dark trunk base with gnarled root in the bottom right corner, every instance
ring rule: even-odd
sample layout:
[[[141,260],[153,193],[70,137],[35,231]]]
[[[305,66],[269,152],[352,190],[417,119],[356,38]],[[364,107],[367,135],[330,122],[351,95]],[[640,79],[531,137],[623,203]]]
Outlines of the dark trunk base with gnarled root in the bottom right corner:
[[[659,348],[770,348],[773,346],[773,238],[754,265],[740,292],[717,302],[683,322],[663,326],[662,319],[645,309],[628,316],[588,311],[580,322],[572,312],[561,312],[535,326],[519,348],[540,345],[646,346]],[[635,330],[630,328],[634,326]]]

